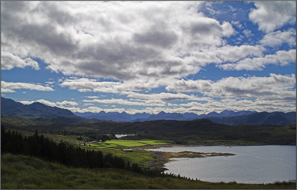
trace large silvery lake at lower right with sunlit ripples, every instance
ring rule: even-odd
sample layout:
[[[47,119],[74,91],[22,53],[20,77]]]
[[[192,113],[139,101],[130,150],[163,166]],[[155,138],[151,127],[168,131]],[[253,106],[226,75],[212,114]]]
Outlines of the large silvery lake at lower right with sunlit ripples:
[[[221,152],[233,156],[175,158],[166,172],[208,182],[273,183],[296,179],[296,146],[177,146],[152,151]]]

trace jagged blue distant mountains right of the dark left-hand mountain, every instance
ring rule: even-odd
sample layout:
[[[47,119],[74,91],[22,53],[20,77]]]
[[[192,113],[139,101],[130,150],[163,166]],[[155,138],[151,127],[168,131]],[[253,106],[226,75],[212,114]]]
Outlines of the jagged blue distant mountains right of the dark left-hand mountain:
[[[124,121],[124,122],[136,122],[136,121],[153,121],[153,120],[197,120],[202,118],[207,118],[214,123],[222,123],[227,125],[239,125],[244,123],[253,124],[265,124],[265,125],[287,125],[290,123],[296,123],[296,112],[256,112],[256,111],[232,111],[224,110],[221,113],[210,112],[208,114],[195,114],[195,113],[165,113],[161,111],[158,114],[147,114],[147,113],[137,113],[137,114],[127,114],[126,112],[104,112],[101,111],[98,114],[88,112],[79,113],[74,112],[75,115],[84,118],[96,118],[96,119],[106,119],[112,121]]]

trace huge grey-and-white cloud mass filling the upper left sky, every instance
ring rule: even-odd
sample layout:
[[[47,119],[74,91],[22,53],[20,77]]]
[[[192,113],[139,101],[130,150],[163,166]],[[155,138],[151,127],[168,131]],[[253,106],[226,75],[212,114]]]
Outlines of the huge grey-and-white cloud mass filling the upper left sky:
[[[194,53],[222,46],[235,32],[199,12],[203,3],[2,2],[1,68],[38,69],[34,57],[65,75],[119,81],[195,74]]]

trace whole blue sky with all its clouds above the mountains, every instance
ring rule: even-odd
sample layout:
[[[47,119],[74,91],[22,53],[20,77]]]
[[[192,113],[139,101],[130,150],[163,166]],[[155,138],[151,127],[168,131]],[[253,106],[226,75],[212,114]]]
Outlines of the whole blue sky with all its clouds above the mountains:
[[[1,1],[1,96],[72,112],[296,111],[296,1]]]

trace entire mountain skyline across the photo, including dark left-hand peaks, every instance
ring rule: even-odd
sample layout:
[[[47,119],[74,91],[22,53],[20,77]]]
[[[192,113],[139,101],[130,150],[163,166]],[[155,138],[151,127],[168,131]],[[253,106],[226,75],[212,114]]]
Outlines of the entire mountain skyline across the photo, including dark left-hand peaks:
[[[296,123],[296,112],[256,112],[256,111],[232,111],[224,110],[220,113],[210,112],[208,114],[195,113],[165,113],[161,111],[158,114],[136,113],[127,114],[126,112],[74,112],[68,109],[47,106],[45,104],[34,102],[32,104],[22,104],[11,99],[1,97],[1,115],[13,115],[26,119],[36,118],[73,118],[68,119],[68,123],[77,123],[79,118],[91,119],[92,122],[100,120],[111,120],[115,122],[143,122],[153,120],[197,120],[207,118],[214,123],[222,123],[227,125],[239,125],[243,123],[265,124],[265,125],[287,125]],[[85,120],[80,120],[85,122]]]

